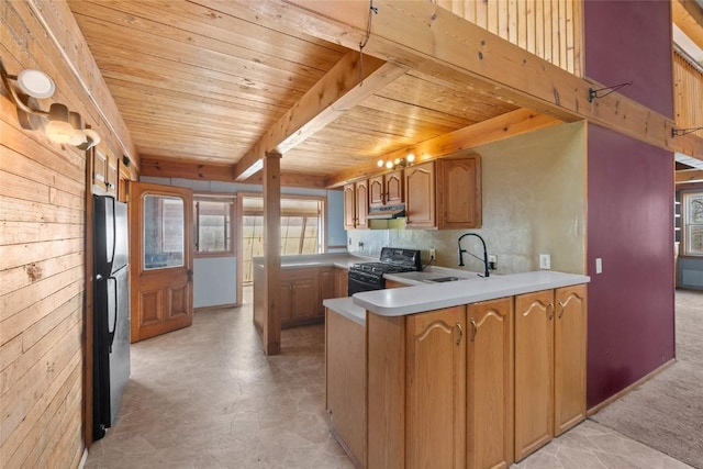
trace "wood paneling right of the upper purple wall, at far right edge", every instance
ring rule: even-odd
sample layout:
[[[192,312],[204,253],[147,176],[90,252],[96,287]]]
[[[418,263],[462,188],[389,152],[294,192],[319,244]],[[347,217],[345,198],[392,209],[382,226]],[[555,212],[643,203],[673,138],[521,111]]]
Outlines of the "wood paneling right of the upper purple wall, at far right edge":
[[[703,126],[703,72],[683,58],[673,54],[673,112],[678,129]],[[703,138],[703,130],[694,132]]]

